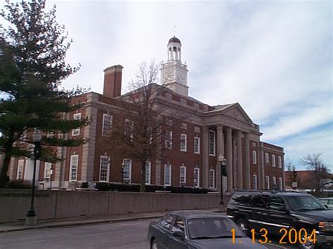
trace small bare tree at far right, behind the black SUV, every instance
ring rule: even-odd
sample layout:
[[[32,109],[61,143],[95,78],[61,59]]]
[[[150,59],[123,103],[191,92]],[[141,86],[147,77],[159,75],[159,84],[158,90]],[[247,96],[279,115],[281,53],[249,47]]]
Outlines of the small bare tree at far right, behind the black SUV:
[[[322,159],[320,158],[322,154],[308,154],[308,156],[304,156],[300,163],[303,166],[307,166],[309,170],[313,170],[313,173],[315,175],[315,191],[318,192],[320,189],[322,189],[322,180],[327,178],[327,175],[329,174],[329,167],[326,166]]]

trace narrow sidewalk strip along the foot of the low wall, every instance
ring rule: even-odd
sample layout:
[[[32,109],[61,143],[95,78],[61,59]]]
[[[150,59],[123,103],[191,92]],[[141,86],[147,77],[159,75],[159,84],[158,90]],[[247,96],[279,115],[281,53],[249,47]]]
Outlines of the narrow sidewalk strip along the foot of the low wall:
[[[218,208],[205,209],[207,211],[223,213],[224,210]],[[84,224],[97,224],[107,222],[123,222],[127,220],[140,220],[140,219],[152,219],[159,218],[168,213],[169,211],[158,212],[158,213],[128,213],[124,215],[107,215],[107,216],[96,216],[96,217],[75,217],[67,219],[57,220],[37,220],[36,226],[27,226],[25,221],[13,222],[13,223],[2,223],[0,224],[0,233],[8,231],[22,231],[29,229],[43,229],[50,227],[69,227],[79,226]]]

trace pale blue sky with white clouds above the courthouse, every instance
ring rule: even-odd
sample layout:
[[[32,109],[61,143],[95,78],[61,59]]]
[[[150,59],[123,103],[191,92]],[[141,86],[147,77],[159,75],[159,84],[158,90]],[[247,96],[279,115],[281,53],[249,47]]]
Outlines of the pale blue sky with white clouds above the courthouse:
[[[322,153],[333,171],[332,1],[47,1],[73,39],[81,69],[63,86],[103,93],[103,69],[122,65],[122,93],[141,62],[166,61],[176,35],[189,95],[239,102],[285,161]],[[3,4],[0,4],[1,7]],[[175,28],[176,25],[176,28]]]

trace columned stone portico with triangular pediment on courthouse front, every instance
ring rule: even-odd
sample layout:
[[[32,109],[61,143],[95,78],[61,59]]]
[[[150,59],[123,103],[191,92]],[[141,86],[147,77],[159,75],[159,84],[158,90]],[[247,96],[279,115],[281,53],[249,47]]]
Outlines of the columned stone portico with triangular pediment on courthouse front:
[[[209,113],[209,112],[208,112]],[[223,191],[233,192],[238,189],[251,189],[249,141],[258,141],[261,133],[239,104],[231,104],[214,110],[206,117],[203,128],[203,170],[204,186],[209,187],[209,168],[215,162],[216,189],[221,189],[221,166],[218,156],[222,155],[227,163],[227,177],[223,179]],[[216,154],[209,154],[209,130],[216,131]],[[207,146],[205,146],[207,144]],[[258,166],[257,166],[258,167]],[[259,184],[260,186],[260,184]]]

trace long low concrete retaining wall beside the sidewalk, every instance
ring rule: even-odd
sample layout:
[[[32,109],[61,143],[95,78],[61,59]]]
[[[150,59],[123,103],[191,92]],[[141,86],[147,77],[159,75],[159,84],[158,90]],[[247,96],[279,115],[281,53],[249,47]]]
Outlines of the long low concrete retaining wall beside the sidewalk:
[[[0,223],[25,220],[29,189],[0,189]],[[225,202],[230,196],[225,196]],[[164,210],[219,208],[218,194],[170,194],[112,191],[36,191],[39,220]]]

